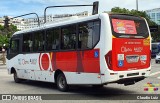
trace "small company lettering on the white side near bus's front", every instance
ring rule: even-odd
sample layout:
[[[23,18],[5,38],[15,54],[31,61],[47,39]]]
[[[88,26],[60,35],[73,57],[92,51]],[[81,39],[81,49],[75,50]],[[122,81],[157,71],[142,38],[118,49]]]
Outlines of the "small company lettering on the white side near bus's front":
[[[18,64],[19,65],[27,65],[27,64],[36,65],[37,59],[30,59],[30,60],[18,59]]]

